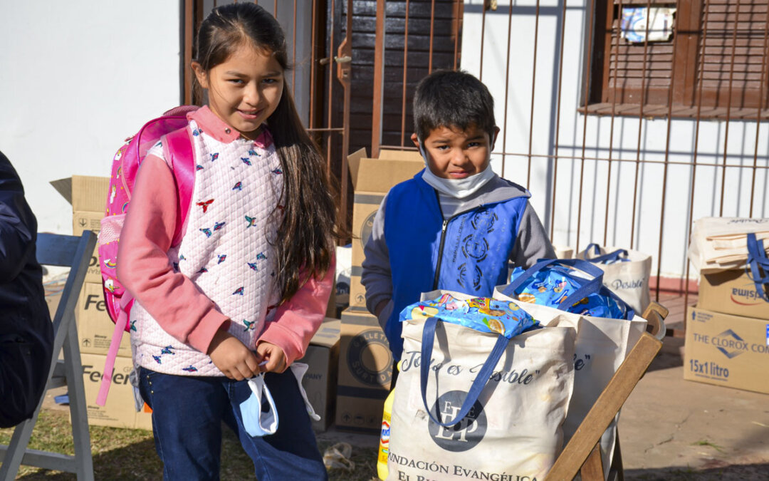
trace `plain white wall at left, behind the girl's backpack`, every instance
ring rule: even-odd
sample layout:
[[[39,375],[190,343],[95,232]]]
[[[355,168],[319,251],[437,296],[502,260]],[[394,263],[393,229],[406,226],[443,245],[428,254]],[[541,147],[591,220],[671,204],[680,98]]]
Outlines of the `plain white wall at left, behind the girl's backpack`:
[[[109,175],[112,155],[179,104],[180,2],[0,0],[0,151],[41,231],[71,233],[48,182]]]

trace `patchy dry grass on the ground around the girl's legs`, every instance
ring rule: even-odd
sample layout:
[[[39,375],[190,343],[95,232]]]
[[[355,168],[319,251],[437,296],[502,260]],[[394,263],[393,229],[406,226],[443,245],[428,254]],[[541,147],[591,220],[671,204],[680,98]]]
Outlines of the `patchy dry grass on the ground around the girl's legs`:
[[[131,481],[139,479],[162,479],[163,466],[155,453],[155,442],[151,431],[141,429],[118,429],[90,426],[91,452],[94,461],[94,477],[99,480]],[[237,437],[230,429],[224,429],[221,451],[221,479],[253,479],[254,465],[241,448]],[[8,444],[13,429],[0,429],[0,444]],[[319,439],[321,453],[331,442]],[[32,431],[30,449],[74,454],[72,428],[68,413],[43,410]],[[351,460],[355,470],[351,473],[332,470],[329,479],[334,481],[370,481],[376,476],[375,448],[353,447]],[[16,479],[25,481],[75,481],[72,473],[62,473],[32,466],[22,466]]]

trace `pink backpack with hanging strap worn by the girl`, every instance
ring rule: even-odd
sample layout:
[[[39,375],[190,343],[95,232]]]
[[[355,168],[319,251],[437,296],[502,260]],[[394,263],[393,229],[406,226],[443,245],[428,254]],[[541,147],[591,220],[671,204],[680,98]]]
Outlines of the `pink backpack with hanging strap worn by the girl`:
[[[107,209],[102,219],[102,230],[98,235],[98,258],[107,312],[115,322],[115,330],[112,332],[112,342],[107,352],[102,384],[96,397],[98,406],[104,406],[106,403],[109,385],[112,382],[112,371],[115,367],[115,356],[118,354],[123,332],[131,332],[128,313],[131,312],[134,299],[118,282],[115,272],[119,262],[120,233],[125,215],[131,205],[131,191],[134,188],[136,174],[148,150],[165,137],[163,153],[168,164],[171,165],[179,190],[176,232],[173,239],[173,245],[178,245],[184,232],[183,227],[195,184],[195,154],[188,133],[189,129],[187,129],[187,114],[196,109],[198,107],[194,105],[182,105],[147,122],[136,135],[128,138],[112,160]]]

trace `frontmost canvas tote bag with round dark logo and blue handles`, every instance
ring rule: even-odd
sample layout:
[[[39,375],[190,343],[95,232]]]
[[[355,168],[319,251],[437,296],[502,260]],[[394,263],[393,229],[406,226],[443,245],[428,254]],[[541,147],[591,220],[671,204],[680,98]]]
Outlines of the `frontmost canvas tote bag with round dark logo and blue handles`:
[[[507,339],[404,321],[388,479],[544,479],[562,449],[578,327],[550,325]]]

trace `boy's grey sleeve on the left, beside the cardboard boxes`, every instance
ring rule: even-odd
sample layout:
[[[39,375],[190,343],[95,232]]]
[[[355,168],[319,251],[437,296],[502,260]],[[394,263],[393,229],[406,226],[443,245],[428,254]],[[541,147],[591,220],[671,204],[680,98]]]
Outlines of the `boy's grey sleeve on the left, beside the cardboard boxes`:
[[[384,242],[384,205],[387,196],[384,196],[379,210],[374,217],[374,225],[371,228],[371,237],[366,242],[363,252],[365,259],[362,263],[361,284],[366,289],[366,307],[368,312],[376,314],[375,309],[382,301],[392,299],[392,273],[390,270],[390,253],[387,243]],[[392,311],[391,302],[380,312],[379,323],[384,327]]]

